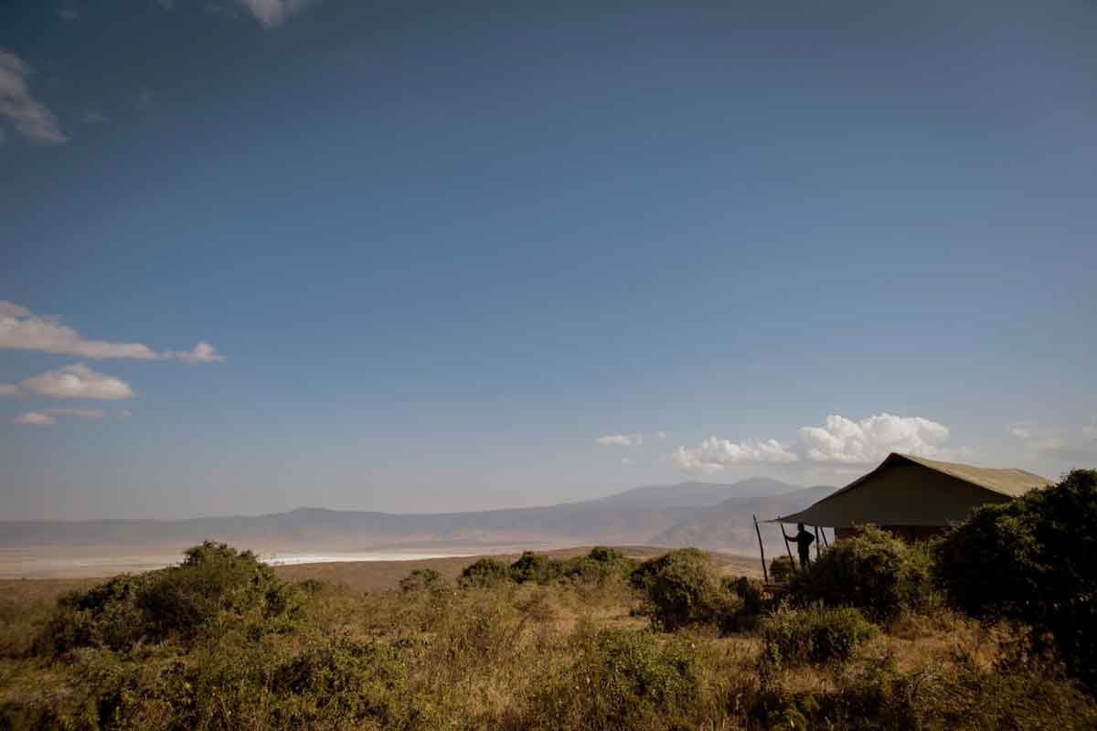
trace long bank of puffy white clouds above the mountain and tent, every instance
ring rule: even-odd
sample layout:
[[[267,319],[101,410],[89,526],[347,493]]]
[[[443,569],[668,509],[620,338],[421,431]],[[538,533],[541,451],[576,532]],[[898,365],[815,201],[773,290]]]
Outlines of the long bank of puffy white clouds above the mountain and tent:
[[[923,457],[958,454],[945,442],[949,430],[920,416],[880,413],[859,421],[830,414],[822,426],[804,426],[795,439],[733,442],[715,436],[695,447],[677,447],[671,458],[678,469],[692,475],[717,472],[732,465],[868,465],[892,452]]]

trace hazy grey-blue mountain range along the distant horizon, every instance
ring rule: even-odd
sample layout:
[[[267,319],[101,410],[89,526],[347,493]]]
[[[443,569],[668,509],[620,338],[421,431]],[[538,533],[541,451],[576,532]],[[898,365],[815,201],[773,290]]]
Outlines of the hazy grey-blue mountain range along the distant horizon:
[[[190,545],[206,538],[257,550],[555,548],[585,544],[695,545],[757,550],[759,519],[807,506],[834,488],[754,478],[732,484],[649,486],[575,503],[475,513],[393,514],[302,507],[258,516],[183,521],[0,522],[0,548]],[[768,526],[777,537],[776,528]]]

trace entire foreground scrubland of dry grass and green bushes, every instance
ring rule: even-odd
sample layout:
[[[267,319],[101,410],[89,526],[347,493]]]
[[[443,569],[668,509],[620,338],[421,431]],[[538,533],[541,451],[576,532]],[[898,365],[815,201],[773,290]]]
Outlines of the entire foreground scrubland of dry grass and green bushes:
[[[1092,729],[1097,472],[912,547],[868,528],[774,595],[609,548],[363,594],[193,548],[0,602],[0,728]]]

